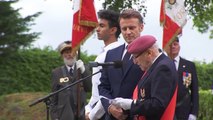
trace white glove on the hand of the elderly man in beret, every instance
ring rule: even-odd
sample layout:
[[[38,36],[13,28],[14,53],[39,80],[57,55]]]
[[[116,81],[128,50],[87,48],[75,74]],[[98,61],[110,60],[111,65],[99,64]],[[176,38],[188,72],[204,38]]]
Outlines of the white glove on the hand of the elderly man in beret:
[[[123,108],[124,110],[129,110],[131,108],[132,99],[126,98],[115,98],[112,100],[112,104]]]

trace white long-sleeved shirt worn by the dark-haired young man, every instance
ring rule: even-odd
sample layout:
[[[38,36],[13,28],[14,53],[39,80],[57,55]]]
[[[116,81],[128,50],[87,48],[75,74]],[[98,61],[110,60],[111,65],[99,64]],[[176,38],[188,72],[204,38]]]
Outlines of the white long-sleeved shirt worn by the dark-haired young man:
[[[96,57],[95,62],[103,63],[105,61],[106,53],[108,52],[108,50],[116,48],[120,45],[121,45],[121,43],[119,43],[119,42],[113,42],[113,43],[105,46],[103,48],[102,53]],[[100,69],[102,69],[101,66],[94,67],[93,73],[98,72]],[[103,109],[102,104],[100,103],[101,101],[100,101],[99,92],[98,92],[98,85],[100,84],[100,77],[101,77],[101,73],[98,73],[98,74],[92,76],[92,95],[91,95],[89,103],[85,106],[85,111],[86,111],[85,113],[90,112],[89,117],[91,120],[93,120],[94,117],[97,117],[97,116],[101,117],[104,114],[104,109]],[[95,104],[96,104],[96,106],[94,107]]]

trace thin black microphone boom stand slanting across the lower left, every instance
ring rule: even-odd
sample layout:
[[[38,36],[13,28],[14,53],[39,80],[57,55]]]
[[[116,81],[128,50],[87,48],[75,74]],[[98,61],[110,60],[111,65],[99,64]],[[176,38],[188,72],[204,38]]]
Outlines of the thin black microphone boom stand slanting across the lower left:
[[[84,78],[81,78],[81,79],[79,79],[79,80],[77,80],[77,81],[75,81],[75,82],[69,84],[69,85],[66,86],[66,87],[63,87],[63,88],[61,88],[61,89],[59,89],[59,90],[57,90],[57,91],[55,91],[55,92],[51,92],[50,94],[48,94],[48,95],[46,95],[46,96],[44,96],[44,97],[41,97],[41,98],[39,98],[39,99],[33,101],[31,104],[29,104],[29,107],[32,107],[32,106],[34,106],[34,105],[36,105],[36,104],[38,104],[38,103],[40,103],[40,102],[44,102],[44,103],[46,104],[47,120],[49,120],[49,109],[50,109],[50,105],[51,105],[50,97],[52,97],[52,96],[55,95],[55,94],[58,94],[58,93],[61,92],[61,91],[64,91],[65,89],[67,89],[67,88],[69,88],[69,87],[72,87],[72,86],[74,86],[74,85],[76,85],[76,84],[78,84],[78,83],[80,83],[80,82],[86,80],[87,78],[92,77],[93,75],[98,74],[99,72],[102,72],[102,70],[99,70],[98,72],[95,72],[95,73],[93,73],[93,74],[91,74],[91,75],[89,75],[89,76],[86,76],[86,77],[84,77]]]

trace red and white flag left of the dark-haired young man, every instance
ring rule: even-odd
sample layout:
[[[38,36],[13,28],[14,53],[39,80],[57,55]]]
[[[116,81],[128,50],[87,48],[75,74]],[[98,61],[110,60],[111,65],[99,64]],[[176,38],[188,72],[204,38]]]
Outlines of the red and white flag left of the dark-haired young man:
[[[74,0],[73,6],[72,52],[75,53],[94,32],[98,20],[93,0]]]

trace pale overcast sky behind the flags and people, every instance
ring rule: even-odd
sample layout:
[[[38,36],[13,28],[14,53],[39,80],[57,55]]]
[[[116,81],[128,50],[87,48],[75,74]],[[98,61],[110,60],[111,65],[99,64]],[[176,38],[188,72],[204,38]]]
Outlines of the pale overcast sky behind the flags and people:
[[[154,35],[158,44],[162,42],[162,27],[159,23],[159,10],[161,0],[147,0],[147,15],[145,17],[144,31],[141,33]],[[95,0],[95,7],[101,9],[100,0]],[[15,8],[22,7],[21,15],[31,15],[36,12],[43,12],[32,26],[33,32],[42,32],[40,38],[34,42],[35,47],[43,48],[51,46],[56,49],[58,44],[71,39],[72,29],[72,2],[70,0],[20,0],[13,5]],[[122,39],[119,42],[123,42]],[[95,43],[95,44],[94,44]],[[209,39],[209,33],[201,34],[193,28],[192,20],[189,19],[183,28],[183,35],[180,38],[180,55],[189,60],[213,61],[213,40]],[[88,54],[98,54],[104,46],[102,41],[91,36],[81,47]]]

